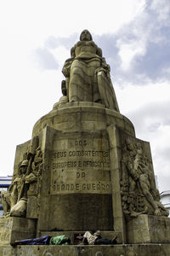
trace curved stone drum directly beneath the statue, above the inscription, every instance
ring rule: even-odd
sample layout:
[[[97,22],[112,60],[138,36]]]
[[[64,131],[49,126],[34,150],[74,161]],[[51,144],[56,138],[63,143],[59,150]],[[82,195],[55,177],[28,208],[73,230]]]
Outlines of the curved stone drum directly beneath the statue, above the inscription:
[[[59,131],[99,131],[112,124],[135,136],[133,124],[121,113],[99,103],[69,102],[39,119],[32,136],[38,135],[47,125]]]

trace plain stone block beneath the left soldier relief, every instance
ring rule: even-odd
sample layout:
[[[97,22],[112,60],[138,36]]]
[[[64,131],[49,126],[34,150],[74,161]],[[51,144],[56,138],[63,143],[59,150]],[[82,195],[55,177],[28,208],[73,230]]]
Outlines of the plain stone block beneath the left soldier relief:
[[[0,218],[0,245],[12,244],[36,236],[37,219],[9,217]],[[1,254],[0,255],[13,255]]]

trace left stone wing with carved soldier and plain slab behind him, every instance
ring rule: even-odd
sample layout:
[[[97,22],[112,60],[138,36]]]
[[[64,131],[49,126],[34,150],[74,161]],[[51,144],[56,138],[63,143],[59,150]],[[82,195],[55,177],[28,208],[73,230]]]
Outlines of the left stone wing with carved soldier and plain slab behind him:
[[[37,195],[38,197],[41,188],[42,150],[39,147],[39,137],[32,137],[30,142],[17,147],[15,166],[17,168],[14,168],[12,183],[8,191],[2,191],[1,193],[3,212],[5,217],[26,217],[29,196]],[[38,202],[37,200],[35,211],[37,211]],[[29,205],[27,212],[29,212]],[[32,209],[31,211],[33,212]],[[29,217],[34,216],[35,218],[36,213]]]

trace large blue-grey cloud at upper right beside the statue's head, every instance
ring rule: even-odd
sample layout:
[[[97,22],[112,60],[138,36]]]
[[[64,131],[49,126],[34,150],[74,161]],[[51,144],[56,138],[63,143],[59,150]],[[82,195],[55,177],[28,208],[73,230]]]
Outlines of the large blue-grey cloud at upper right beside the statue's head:
[[[157,8],[157,9],[156,9]],[[106,59],[111,63],[111,73],[115,80],[132,82],[143,85],[148,80],[170,79],[170,21],[161,19],[157,13],[158,6],[151,8],[147,4],[143,15],[122,27],[116,34],[103,34],[94,39],[103,49]],[[144,44],[144,54],[135,55],[129,70],[122,70],[118,51],[122,44],[139,42]],[[119,42],[119,44],[117,44]],[[121,42],[121,43],[120,43]]]

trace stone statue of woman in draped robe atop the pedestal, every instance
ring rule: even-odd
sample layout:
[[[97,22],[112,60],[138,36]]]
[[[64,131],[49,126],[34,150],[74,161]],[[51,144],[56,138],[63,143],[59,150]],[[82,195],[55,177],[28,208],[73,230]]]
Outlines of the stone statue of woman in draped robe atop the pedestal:
[[[68,102],[97,102],[119,112],[110,71],[102,50],[90,32],[83,30],[62,69]]]

